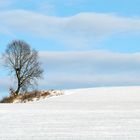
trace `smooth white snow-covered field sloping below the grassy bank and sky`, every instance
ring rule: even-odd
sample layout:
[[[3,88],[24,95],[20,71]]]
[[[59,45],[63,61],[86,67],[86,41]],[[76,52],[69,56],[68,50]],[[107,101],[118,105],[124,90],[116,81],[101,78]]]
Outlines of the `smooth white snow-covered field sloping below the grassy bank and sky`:
[[[0,140],[140,140],[140,87],[66,90],[0,105]]]

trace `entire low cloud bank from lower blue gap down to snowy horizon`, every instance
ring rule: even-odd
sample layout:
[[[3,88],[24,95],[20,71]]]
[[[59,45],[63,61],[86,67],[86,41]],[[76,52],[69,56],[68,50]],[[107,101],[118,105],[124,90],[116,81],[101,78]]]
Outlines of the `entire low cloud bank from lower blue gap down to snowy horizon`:
[[[45,70],[44,79],[39,81],[40,89],[140,84],[140,53],[87,51],[39,55]],[[4,76],[3,79],[1,87],[8,88],[11,80]]]

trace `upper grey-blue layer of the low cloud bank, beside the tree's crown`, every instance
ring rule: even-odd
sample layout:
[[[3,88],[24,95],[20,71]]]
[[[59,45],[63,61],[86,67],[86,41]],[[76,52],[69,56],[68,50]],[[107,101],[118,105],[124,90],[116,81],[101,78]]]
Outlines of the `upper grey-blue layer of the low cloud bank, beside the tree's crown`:
[[[88,74],[101,71],[126,72],[140,69],[140,53],[113,53],[108,51],[40,52],[44,64],[57,69],[75,67]]]

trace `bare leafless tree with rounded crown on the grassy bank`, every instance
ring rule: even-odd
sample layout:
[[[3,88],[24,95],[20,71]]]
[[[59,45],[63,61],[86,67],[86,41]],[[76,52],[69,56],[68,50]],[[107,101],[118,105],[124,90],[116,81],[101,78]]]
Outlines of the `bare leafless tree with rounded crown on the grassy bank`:
[[[37,83],[42,77],[43,70],[38,61],[38,52],[21,40],[11,42],[3,54],[5,66],[14,74],[17,88],[14,91],[18,95]]]

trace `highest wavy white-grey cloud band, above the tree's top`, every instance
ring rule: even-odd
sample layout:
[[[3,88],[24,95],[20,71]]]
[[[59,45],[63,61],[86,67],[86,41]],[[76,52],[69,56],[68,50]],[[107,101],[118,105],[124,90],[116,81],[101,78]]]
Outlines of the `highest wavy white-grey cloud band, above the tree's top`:
[[[85,46],[116,34],[139,34],[140,18],[113,14],[79,13],[70,17],[46,16],[25,10],[0,13],[5,28],[61,41],[70,46]]]

